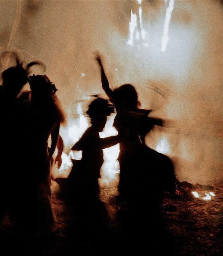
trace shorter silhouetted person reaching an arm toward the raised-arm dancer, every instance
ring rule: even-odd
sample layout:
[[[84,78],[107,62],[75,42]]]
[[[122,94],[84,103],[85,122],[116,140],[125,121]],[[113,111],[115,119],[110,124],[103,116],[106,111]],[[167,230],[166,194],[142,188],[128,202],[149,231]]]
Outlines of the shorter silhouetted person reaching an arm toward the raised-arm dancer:
[[[89,127],[71,150],[82,150],[82,159],[73,162],[73,168],[67,178],[69,193],[73,201],[77,222],[82,231],[98,229],[99,223],[107,211],[99,200],[100,170],[103,165],[103,148],[109,148],[119,142],[118,136],[100,138],[107,116],[113,112],[108,100],[97,98],[91,102],[87,114],[91,118]],[[95,224],[96,223],[96,224]],[[80,226],[81,225],[81,226]],[[85,230],[86,231],[86,230]]]

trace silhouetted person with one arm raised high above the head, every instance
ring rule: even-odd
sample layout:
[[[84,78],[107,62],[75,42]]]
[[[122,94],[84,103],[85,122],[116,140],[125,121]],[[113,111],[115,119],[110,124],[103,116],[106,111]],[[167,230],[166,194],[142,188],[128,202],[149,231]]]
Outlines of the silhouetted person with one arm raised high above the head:
[[[144,232],[152,235],[151,246],[164,244],[161,204],[164,192],[175,194],[176,177],[172,161],[148,148],[144,142],[153,126],[162,126],[163,121],[149,118],[151,110],[139,108],[138,94],[131,84],[111,90],[101,57],[96,55],[96,60],[101,68],[102,87],[117,112],[114,126],[121,137],[118,190],[126,204],[120,212],[126,231],[126,247],[133,244],[134,250],[143,252],[145,248],[142,245],[147,244],[147,239],[141,235]]]

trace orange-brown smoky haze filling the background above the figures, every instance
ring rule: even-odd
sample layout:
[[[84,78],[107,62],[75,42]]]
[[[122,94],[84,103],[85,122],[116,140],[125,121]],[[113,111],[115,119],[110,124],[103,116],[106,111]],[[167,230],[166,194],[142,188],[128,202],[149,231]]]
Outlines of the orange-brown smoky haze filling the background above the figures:
[[[18,2],[0,3],[2,52]],[[168,4],[164,1],[142,1],[147,34],[143,42],[134,39],[133,45],[126,42],[131,9],[138,12],[137,1],[24,0],[21,4],[12,50],[18,49],[27,62],[35,59],[46,64],[68,120],[76,112],[77,100],[103,94],[93,60],[98,50],[111,87],[134,84],[142,108],[173,121],[171,128],[154,128],[146,143],[172,158],[177,177],[193,183],[222,182],[220,1],[174,1],[165,52],[160,51]]]

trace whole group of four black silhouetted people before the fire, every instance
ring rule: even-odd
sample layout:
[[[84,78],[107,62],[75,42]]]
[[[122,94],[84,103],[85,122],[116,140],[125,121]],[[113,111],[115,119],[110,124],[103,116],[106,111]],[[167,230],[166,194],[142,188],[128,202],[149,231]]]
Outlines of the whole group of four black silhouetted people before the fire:
[[[41,65],[45,69],[45,66],[37,61],[25,66],[15,53],[10,54],[15,58],[16,66],[2,73],[0,86],[0,158],[4,170],[1,174],[4,182],[0,186],[0,217],[8,211],[15,233],[20,236],[47,236],[54,225],[50,168],[56,147],[58,168],[62,163],[64,145],[59,128],[65,122],[65,114],[56,96],[55,84],[45,75],[30,75],[30,67]],[[77,229],[87,228],[93,220],[96,226],[100,225],[100,221],[95,220],[107,214],[99,200],[103,149],[120,143],[118,191],[120,202],[128,206],[124,214],[120,214],[124,228],[129,237],[134,237],[147,223],[147,228],[156,237],[160,234],[158,223],[162,223],[160,205],[164,192],[175,193],[176,177],[170,158],[146,146],[145,136],[154,125],[163,126],[164,121],[150,118],[152,110],[140,108],[138,94],[131,84],[112,90],[100,54],[96,54],[95,60],[101,70],[102,88],[109,100],[95,98],[89,104],[86,113],[91,126],[71,148],[81,150],[82,158],[73,160],[73,168],[61,190],[72,205],[79,223]],[[27,82],[30,91],[22,92]],[[107,117],[114,109],[114,127],[118,135],[100,138],[99,132],[105,128]],[[139,237],[143,239],[143,236]]]

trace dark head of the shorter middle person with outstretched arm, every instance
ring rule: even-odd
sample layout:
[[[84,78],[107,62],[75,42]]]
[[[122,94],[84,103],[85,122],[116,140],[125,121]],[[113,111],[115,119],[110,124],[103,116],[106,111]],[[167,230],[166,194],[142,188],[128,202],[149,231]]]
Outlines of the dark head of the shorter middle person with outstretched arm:
[[[91,118],[92,127],[98,132],[102,132],[107,121],[107,116],[113,112],[114,107],[109,104],[108,100],[97,98],[91,102],[86,113]]]

